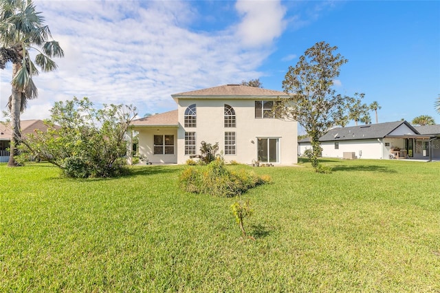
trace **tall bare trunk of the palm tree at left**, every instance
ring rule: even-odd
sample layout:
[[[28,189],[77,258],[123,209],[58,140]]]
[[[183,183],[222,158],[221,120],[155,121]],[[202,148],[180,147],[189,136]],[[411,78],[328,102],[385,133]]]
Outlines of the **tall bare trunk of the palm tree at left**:
[[[12,64],[12,76],[15,76],[19,69],[21,68],[21,63]],[[17,166],[14,156],[18,155],[18,149],[21,142],[21,127],[20,127],[20,110],[21,110],[21,91],[17,87],[12,86],[12,99],[10,100],[11,106],[11,142],[10,142],[10,153],[8,166]]]

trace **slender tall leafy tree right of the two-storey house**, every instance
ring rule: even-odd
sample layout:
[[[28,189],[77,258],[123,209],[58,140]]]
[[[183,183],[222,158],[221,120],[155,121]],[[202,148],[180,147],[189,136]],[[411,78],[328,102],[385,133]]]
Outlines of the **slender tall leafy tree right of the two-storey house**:
[[[362,105],[364,94],[342,96],[333,89],[333,80],[347,59],[336,54],[338,47],[326,42],[316,43],[300,56],[295,67],[290,66],[283,89],[289,98],[280,99],[274,111],[278,118],[296,120],[311,138],[311,164],[318,171],[319,138],[331,127],[345,125],[351,109]]]

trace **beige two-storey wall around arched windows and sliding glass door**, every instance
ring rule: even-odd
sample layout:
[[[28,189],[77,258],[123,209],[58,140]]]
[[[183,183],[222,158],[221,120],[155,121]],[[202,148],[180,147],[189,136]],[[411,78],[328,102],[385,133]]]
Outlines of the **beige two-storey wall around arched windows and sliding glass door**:
[[[197,127],[184,127],[184,113],[189,105],[196,104]],[[224,127],[224,105],[234,108],[236,127]],[[201,141],[214,144],[219,142],[219,151],[224,153],[225,131],[236,133],[236,155],[224,155],[225,161],[235,160],[243,164],[252,164],[257,160],[259,138],[278,138],[278,162],[274,164],[296,164],[297,159],[297,122],[278,119],[255,118],[255,100],[253,99],[200,99],[178,101],[179,130],[177,131],[177,163],[184,164],[190,158],[185,155],[185,132],[195,131],[196,150],[199,154]]]

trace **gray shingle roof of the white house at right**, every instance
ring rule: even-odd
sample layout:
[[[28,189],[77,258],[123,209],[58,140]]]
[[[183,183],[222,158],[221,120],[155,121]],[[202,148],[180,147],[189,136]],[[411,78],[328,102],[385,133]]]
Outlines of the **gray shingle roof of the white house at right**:
[[[401,124],[412,126],[406,121],[385,122],[377,124],[367,124],[354,127],[338,127],[329,130],[322,135],[320,142],[328,142],[333,140],[365,140],[371,138],[384,138]],[[415,131],[417,133],[417,131]]]

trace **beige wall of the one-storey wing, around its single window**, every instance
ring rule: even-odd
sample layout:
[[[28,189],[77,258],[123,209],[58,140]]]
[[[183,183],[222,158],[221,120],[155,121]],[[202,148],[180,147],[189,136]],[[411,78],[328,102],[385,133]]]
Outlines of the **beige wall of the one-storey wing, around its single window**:
[[[175,164],[177,163],[177,129],[175,128],[154,128],[136,129],[139,131],[139,153],[146,155],[153,164]],[[174,135],[174,155],[155,155],[153,152],[154,135]]]

